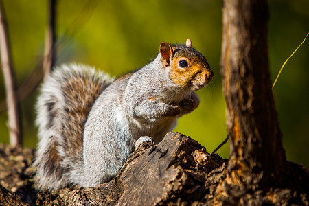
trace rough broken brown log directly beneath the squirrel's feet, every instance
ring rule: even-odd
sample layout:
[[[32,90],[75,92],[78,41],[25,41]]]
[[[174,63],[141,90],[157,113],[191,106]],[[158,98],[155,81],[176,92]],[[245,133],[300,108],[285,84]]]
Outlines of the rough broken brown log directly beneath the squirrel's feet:
[[[54,198],[53,203],[60,205],[203,203],[213,195],[211,183],[216,185],[224,176],[207,179],[207,175],[224,170],[224,162],[218,155],[209,155],[190,137],[168,133],[158,145],[148,144],[134,152],[109,183],[88,189],[65,189],[54,196],[48,192],[41,195],[49,201]],[[205,181],[209,182],[207,186]]]

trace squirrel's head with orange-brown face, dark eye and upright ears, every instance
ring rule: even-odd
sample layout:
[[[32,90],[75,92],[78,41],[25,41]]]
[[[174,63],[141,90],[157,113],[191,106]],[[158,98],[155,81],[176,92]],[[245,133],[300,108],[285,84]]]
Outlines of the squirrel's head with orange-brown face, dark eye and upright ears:
[[[185,45],[161,43],[160,54],[164,69],[170,70],[170,79],[185,90],[198,90],[209,84],[214,73],[205,57],[192,48],[192,41]]]

